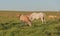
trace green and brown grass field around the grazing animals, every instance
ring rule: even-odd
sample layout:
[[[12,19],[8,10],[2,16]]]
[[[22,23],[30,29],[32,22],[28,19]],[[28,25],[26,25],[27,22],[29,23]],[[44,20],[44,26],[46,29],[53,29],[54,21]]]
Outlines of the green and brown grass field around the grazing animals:
[[[29,14],[25,11],[0,11],[0,36],[60,36],[60,19],[49,20],[42,24],[40,20],[32,22],[32,26],[24,25],[16,14]],[[60,16],[60,12],[45,11],[46,15]]]

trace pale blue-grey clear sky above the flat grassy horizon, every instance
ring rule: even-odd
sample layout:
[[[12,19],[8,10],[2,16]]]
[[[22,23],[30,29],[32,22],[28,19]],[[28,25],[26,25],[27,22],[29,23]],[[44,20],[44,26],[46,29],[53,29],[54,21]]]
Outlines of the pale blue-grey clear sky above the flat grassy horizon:
[[[60,11],[60,0],[0,0],[0,10]]]

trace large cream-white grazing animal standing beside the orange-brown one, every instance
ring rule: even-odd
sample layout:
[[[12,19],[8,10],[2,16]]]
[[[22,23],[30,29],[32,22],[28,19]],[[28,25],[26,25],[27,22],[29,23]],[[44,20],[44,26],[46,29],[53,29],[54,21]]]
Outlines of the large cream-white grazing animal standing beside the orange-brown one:
[[[29,17],[29,19],[31,20],[31,21],[33,21],[33,20],[37,20],[37,19],[41,19],[41,21],[42,21],[42,23],[43,22],[45,22],[46,23],[46,21],[45,21],[45,14],[44,13],[32,13],[31,15],[30,15],[30,17]]]

